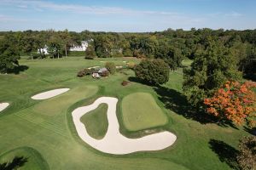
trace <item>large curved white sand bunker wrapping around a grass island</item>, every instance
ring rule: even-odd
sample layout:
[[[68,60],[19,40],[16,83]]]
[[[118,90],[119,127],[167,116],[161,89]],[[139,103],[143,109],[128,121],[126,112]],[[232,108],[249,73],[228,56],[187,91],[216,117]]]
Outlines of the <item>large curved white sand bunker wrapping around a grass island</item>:
[[[128,139],[119,133],[119,122],[116,116],[116,105],[118,99],[102,97],[96,99],[92,105],[79,107],[72,112],[73,122],[79,133],[79,137],[96,150],[105,153],[124,155],[142,150],[163,150],[172,145],[177,137],[170,132],[154,133],[140,139]],[[86,127],[80,122],[81,116],[89,111],[95,110],[98,105],[108,105],[108,132],[103,139],[97,140],[90,137]]]

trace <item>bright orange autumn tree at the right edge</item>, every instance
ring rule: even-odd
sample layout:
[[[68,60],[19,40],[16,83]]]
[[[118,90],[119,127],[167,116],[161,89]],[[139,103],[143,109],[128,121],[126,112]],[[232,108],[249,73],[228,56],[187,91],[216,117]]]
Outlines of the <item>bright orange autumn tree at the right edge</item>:
[[[247,121],[254,127],[256,95],[252,88],[255,87],[255,82],[225,82],[212,98],[204,99],[207,113],[219,119],[228,119],[237,125]]]

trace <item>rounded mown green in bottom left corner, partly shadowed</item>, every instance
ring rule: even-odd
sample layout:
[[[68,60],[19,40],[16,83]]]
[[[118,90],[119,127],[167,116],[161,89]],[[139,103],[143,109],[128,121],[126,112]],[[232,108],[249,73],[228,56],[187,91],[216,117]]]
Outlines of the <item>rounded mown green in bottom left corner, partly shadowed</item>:
[[[9,150],[8,152],[4,153],[0,156],[0,164],[3,162],[10,162],[13,161],[15,156],[22,156],[24,159],[24,165],[19,167],[18,169],[33,169],[33,170],[47,170],[49,169],[49,165],[47,161],[44,160],[43,156],[38,152],[38,150],[34,150],[29,147],[20,147],[15,150]],[[18,162],[15,163],[16,165],[19,164]],[[0,168],[1,169],[1,168]]]

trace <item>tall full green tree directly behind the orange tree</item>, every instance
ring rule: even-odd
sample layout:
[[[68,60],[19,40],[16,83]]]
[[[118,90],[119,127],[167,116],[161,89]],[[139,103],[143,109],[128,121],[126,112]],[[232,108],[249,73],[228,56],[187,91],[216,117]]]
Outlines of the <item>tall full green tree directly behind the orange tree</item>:
[[[227,80],[241,80],[237,60],[230,54],[224,42],[207,37],[206,50],[195,53],[190,69],[183,72],[183,90],[189,103],[201,106],[203,99],[211,97]]]

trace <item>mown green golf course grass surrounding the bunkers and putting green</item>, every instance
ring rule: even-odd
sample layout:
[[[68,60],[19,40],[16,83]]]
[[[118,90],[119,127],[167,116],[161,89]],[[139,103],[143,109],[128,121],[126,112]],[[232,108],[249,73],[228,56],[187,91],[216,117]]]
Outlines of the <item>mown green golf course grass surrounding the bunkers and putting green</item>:
[[[184,116],[186,111],[182,110],[183,102],[179,101],[182,97],[182,70],[170,74],[170,81],[164,85],[169,91],[163,88],[162,93],[158,93],[154,87],[137,82],[131,82],[129,86],[123,87],[121,82],[134,77],[133,71],[118,72],[100,80],[76,77],[77,72],[82,68],[104,65],[100,62],[102,60],[113,60],[116,64],[124,65],[123,60],[129,59],[86,60],[70,57],[29,60],[23,58],[20,60],[20,65],[27,65],[28,70],[21,71],[19,75],[0,75],[0,100],[10,103],[10,106],[0,113],[0,155],[16,148],[29,147],[37,150],[44,157],[49,169],[225,170],[233,168],[231,165],[235,163],[227,156],[231,156],[233,150],[237,149],[239,139],[249,133],[243,127],[220,127],[214,123],[201,123]],[[71,90],[49,99],[52,105],[48,100],[31,99],[33,94],[54,88],[71,88]],[[163,127],[151,129],[160,128],[175,133],[177,135],[175,144],[166,150],[113,156],[94,150],[79,139],[73,127],[71,112],[79,106],[90,105],[100,96],[119,99],[117,116],[121,133],[126,136],[143,134],[143,131],[129,132],[122,121],[121,101],[125,96],[134,93],[152,95],[154,102],[166,113],[168,122]],[[166,105],[165,99],[171,106]],[[174,99],[176,102],[172,103]],[[54,105],[59,107],[55,108]],[[42,109],[39,109],[40,107]],[[216,146],[220,150],[216,149]],[[225,154],[221,152],[222,148]],[[32,157],[34,156],[30,156],[26,165]]]

